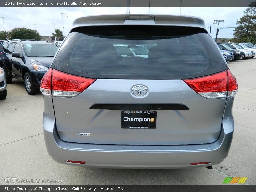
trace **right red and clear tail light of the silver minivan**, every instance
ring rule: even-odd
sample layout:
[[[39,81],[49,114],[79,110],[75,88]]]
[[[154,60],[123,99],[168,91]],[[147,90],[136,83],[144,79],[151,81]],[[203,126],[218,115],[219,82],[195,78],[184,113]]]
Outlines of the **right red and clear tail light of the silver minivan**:
[[[238,89],[236,78],[229,69],[214,75],[183,81],[204,98],[234,97]]]

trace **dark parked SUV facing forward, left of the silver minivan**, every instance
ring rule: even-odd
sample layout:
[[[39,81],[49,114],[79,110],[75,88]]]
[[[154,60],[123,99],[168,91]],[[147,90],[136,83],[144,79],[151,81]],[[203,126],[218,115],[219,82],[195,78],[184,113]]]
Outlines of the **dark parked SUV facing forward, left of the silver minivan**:
[[[28,94],[36,94],[57,50],[48,41],[9,40],[0,55],[7,83],[12,83],[12,78],[22,80]]]

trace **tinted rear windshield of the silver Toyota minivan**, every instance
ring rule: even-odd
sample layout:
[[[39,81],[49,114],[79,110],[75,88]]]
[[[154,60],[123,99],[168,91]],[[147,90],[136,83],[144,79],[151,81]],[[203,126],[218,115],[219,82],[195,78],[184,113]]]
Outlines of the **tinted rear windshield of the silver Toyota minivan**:
[[[52,68],[89,78],[186,79],[227,66],[204,29],[126,25],[73,29]]]

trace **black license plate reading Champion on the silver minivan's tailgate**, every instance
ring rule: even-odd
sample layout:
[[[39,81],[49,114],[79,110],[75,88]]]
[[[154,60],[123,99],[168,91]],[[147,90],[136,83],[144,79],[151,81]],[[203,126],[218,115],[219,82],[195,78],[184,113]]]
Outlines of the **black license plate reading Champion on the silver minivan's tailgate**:
[[[156,111],[121,111],[121,128],[155,129]]]

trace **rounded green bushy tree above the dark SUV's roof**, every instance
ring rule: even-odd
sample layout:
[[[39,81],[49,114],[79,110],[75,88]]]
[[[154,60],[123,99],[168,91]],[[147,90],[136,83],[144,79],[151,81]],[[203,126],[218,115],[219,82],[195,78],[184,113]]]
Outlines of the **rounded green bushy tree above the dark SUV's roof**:
[[[37,39],[41,40],[42,36],[38,31],[30,28],[14,28],[9,32],[9,39]]]

